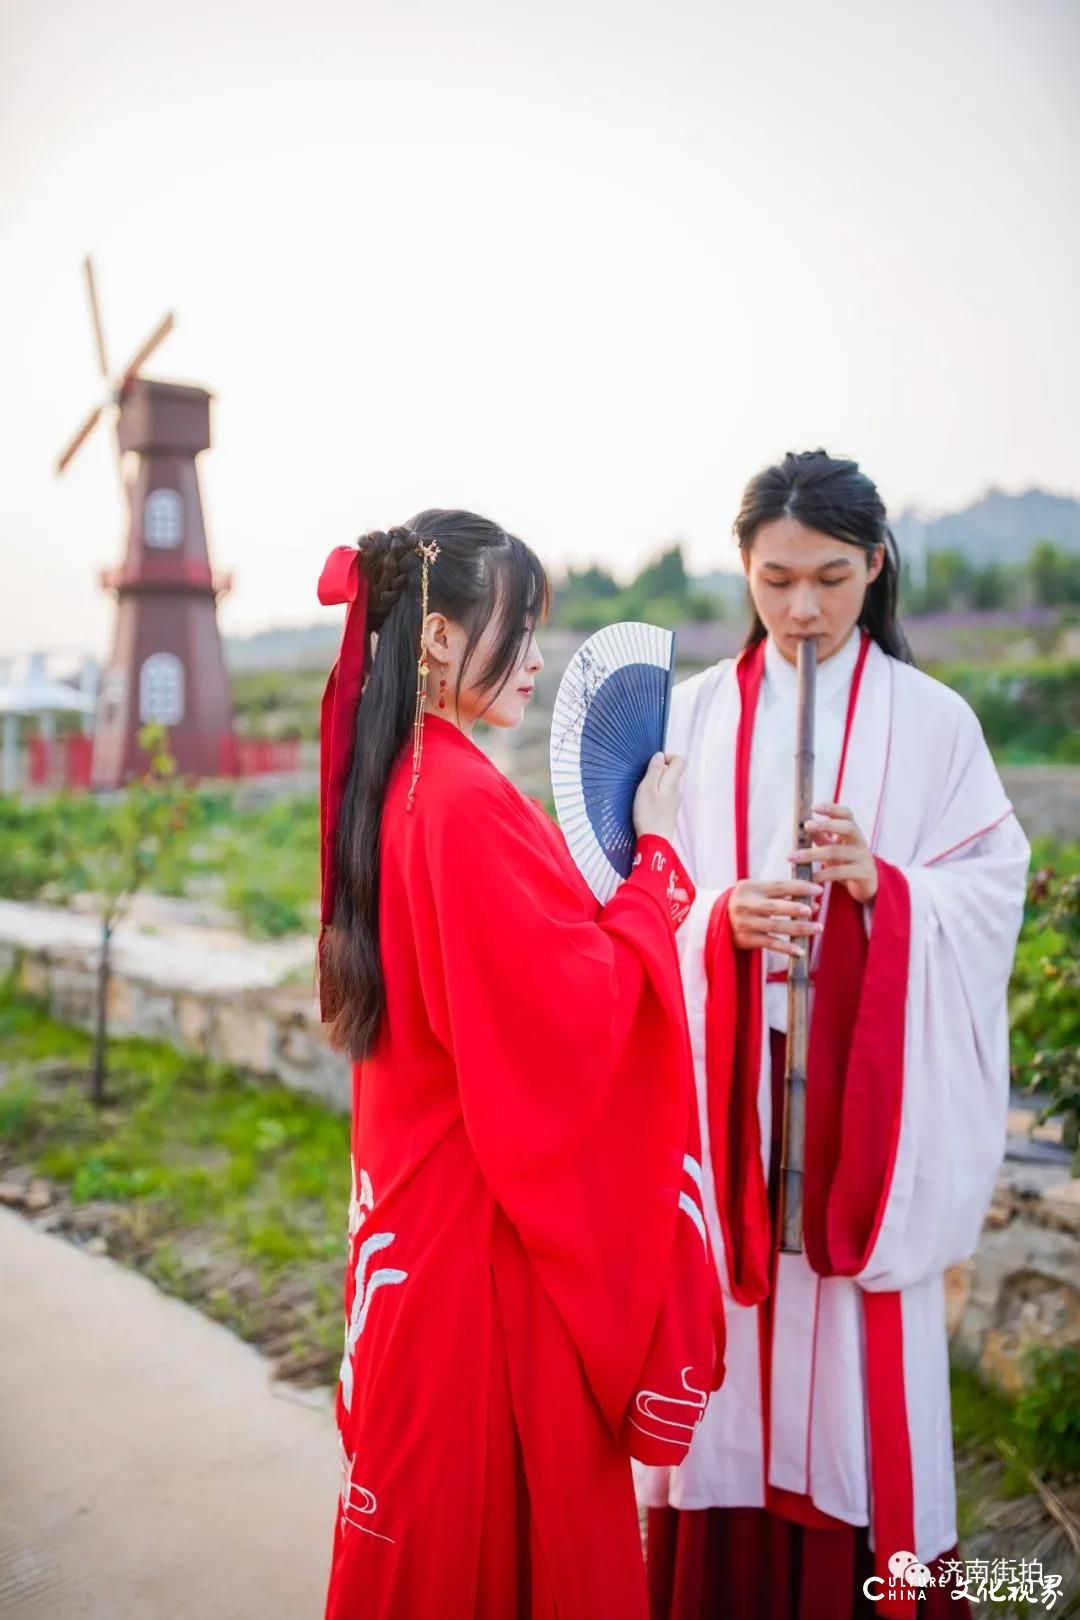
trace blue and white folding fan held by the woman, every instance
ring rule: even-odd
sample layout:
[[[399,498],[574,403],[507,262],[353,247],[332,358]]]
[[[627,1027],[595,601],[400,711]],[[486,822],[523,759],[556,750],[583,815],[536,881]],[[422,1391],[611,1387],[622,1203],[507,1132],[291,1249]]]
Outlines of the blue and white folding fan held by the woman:
[[[551,723],[551,781],[570,854],[601,904],[630,876],[633,795],[664,748],[675,637],[610,624],[570,659]]]

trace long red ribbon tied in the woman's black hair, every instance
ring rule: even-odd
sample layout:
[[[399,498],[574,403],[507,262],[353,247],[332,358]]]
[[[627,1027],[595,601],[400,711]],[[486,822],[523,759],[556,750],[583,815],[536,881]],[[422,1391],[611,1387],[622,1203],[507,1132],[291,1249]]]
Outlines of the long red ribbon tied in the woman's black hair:
[[[319,718],[319,849],[322,867],[319,961],[322,961],[325,928],[334,922],[337,823],[353,758],[356,710],[359,708],[368,658],[368,578],[356,546],[334,548],[319,575],[319,601],[324,608],[348,603],[342,646],[322,693]],[[321,1009],[322,1017],[327,1019],[325,998],[321,1000]]]

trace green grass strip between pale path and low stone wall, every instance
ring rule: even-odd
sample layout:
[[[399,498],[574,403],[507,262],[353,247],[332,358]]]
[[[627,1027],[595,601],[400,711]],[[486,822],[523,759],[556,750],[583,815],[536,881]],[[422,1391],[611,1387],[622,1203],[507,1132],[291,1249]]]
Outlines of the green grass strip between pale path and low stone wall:
[[[0,1173],[31,1170],[62,1225],[198,1301],[282,1364],[329,1380],[340,1356],[348,1121],[280,1085],[146,1040],[110,1045],[87,1100],[89,1037],[0,990]]]

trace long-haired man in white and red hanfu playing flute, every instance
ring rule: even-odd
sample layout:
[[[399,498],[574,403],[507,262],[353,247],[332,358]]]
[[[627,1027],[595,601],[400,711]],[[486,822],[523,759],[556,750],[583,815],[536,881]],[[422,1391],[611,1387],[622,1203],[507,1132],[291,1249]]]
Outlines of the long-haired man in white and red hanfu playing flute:
[[[873,483],[824,452],[751,481],[756,609],[680,684],[680,932],[727,1307],[688,1460],[646,1469],[654,1620],[959,1615],[944,1273],[1004,1155],[1028,844],[978,721],[912,663]],[[818,643],[813,881],[793,876],[795,663]],[[803,1252],[777,1252],[787,966],[810,953]],[[892,1570],[891,1570],[892,1560]],[[907,1591],[904,1571],[934,1584]],[[905,1596],[907,1592],[907,1596]]]

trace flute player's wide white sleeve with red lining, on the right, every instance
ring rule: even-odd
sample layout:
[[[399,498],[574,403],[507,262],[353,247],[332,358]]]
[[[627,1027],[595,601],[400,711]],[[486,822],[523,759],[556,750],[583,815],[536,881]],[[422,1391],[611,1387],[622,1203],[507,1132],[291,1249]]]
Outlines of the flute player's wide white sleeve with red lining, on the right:
[[[1007,813],[923,865],[879,860],[870,938],[832,896],[806,1098],[814,1270],[891,1291],[973,1252],[1006,1145],[1027,865]]]

